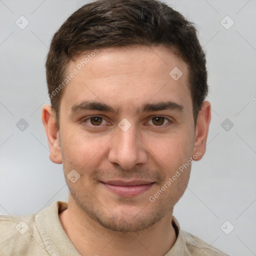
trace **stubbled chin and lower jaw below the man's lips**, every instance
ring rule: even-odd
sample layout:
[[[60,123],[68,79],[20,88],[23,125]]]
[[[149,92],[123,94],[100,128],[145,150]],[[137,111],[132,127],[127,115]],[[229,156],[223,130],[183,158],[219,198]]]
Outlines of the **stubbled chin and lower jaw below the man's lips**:
[[[142,203],[141,200],[136,202],[134,198],[119,198],[117,201],[100,202],[95,197],[77,196],[80,193],[74,189],[69,191],[85,218],[108,230],[122,233],[145,230],[171,209],[161,200]]]

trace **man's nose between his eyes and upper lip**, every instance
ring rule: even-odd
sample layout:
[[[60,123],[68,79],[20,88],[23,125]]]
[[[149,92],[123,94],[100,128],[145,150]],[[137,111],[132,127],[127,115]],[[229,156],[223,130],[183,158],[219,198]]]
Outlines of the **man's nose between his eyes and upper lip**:
[[[128,170],[147,161],[146,148],[135,125],[131,125],[126,131],[117,127],[117,132],[111,139],[108,160]]]

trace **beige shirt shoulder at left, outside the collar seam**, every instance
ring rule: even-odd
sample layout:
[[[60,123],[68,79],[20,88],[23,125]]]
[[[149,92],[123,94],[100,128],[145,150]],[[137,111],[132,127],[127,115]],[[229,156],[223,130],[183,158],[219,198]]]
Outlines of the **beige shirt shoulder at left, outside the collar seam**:
[[[34,246],[44,246],[36,232],[35,214],[0,215],[0,255],[28,255]]]

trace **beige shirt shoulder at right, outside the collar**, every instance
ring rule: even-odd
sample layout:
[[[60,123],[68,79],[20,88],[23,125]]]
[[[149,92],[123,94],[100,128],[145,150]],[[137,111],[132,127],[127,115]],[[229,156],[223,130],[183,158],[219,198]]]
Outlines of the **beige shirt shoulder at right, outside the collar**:
[[[189,232],[180,230],[180,235],[184,239],[186,248],[190,253],[189,255],[197,255],[200,253],[201,256],[228,256],[228,254],[211,246],[207,242]]]

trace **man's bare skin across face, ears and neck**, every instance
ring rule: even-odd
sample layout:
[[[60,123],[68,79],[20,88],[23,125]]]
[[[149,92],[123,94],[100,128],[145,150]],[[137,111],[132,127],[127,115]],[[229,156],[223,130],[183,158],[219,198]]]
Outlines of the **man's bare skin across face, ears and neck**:
[[[70,61],[66,73],[83,59]],[[178,80],[169,75],[173,67],[183,73]],[[71,106],[83,100],[104,102],[119,112],[70,114]],[[145,103],[168,100],[183,109],[135,112]],[[103,119],[95,122],[91,115]],[[170,121],[160,118],[159,124],[157,116]],[[123,118],[131,124],[126,131],[118,127]],[[81,255],[165,255],[176,240],[173,206],[187,186],[191,165],[154,202],[148,198],[189,157],[203,156],[210,122],[210,103],[204,101],[194,126],[186,63],[164,46],[99,49],[64,89],[60,129],[50,105],[42,108],[42,122],[50,160],[63,163],[70,193],[59,219],[76,250]],[[80,175],[74,183],[67,178],[72,169]],[[100,182],[110,179],[153,183],[125,196]]]

